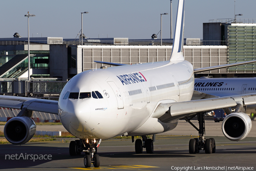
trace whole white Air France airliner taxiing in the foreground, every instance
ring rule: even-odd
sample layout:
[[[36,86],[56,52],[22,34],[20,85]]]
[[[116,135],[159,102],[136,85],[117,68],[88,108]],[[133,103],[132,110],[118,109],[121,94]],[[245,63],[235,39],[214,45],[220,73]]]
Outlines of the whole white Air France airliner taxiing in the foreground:
[[[85,152],[84,166],[100,166],[97,147],[102,140],[115,136],[141,136],[135,141],[135,152],[153,152],[155,135],[174,129],[178,119],[197,115],[199,139],[191,139],[189,153],[199,150],[215,152],[215,140],[204,137],[204,113],[237,106],[223,122],[224,135],[233,141],[244,139],[251,130],[251,119],[242,113],[245,105],[256,104],[255,94],[236,95],[191,101],[194,74],[246,64],[248,61],[193,69],[183,58],[185,0],[179,1],[174,44],[170,60],[111,68],[88,70],[74,76],[63,88],[59,101],[26,97],[0,96],[0,107],[22,109],[4,128],[6,139],[24,144],[32,138],[36,125],[31,111],[58,114],[61,123],[79,140],[71,141],[70,155]],[[107,64],[105,62],[101,62]],[[118,66],[121,65],[121,66]],[[153,136],[154,137],[154,136]]]

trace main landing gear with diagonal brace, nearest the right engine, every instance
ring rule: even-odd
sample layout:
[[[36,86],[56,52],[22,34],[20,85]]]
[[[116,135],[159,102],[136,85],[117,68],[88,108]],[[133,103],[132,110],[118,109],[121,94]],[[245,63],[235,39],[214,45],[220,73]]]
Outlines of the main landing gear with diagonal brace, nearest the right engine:
[[[190,120],[197,115],[197,120],[199,122],[199,129],[190,122]],[[204,137],[205,133],[205,113],[198,113],[188,119],[184,117],[184,119],[189,122],[199,133],[199,138],[190,139],[189,141],[189,153],[195,154],[199,153],[200,150],[205,150],[206,154],[211,154],[216,151],[215,140],[213,138],[206,139]]]

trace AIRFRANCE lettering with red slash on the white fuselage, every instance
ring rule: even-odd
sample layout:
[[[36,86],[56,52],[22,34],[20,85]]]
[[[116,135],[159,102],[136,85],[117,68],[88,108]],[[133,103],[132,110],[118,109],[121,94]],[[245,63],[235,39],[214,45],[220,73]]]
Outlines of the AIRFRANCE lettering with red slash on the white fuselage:
[[[147,81],[146,78],[140,72],[119,75],[117,76],[117,78],[119,78],[119,80],[123,83],[123,85],[135,84],[135,83]]]

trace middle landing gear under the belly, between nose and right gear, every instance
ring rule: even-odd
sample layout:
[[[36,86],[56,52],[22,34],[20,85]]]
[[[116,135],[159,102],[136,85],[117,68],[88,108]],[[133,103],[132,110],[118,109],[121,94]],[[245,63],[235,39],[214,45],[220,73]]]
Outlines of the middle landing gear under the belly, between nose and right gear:
[[[146,152],[148,154],[152,154],[154,152],[154,144],[153,140],[155,138],[155,135],[153,135],[153,140],[148,139],[146,135],[141,136],[141,139],[137,139],[135,141],[135,152],[136,154],[141,154],[143,152],[143,148],[146,148]],[[132,142],[134,142],[134,136],[132,136]]]

